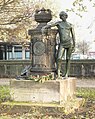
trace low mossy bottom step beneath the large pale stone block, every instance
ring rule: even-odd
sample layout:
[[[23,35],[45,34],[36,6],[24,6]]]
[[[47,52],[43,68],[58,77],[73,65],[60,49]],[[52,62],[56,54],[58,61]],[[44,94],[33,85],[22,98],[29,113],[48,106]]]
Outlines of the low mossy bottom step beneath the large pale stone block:
[[[63,115],[74,113],[76,109],[83,106],[85,100],[82,98],[76,98],[72,101],[66,101],[64,104],[43,104],[43,103],[27,103],[27,102],[4,102],[0,105],[0,114],[19,114],[32,113],[46,115]]]

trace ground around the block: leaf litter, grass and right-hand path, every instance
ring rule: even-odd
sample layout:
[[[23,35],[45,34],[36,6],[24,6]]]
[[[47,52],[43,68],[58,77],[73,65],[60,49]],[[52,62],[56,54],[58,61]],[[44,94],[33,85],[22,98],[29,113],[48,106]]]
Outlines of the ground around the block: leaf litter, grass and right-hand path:
[[[85,83],[87,82],[87,83]],[[3,83],[2,83],[3,84]],[[6,83],[8,84],[8,82]],[[80,84],[80,85],[79,85]],[[92,86],[91,86],[92,84]],[[53,110],[47,112],[46,110],[41,110],[40,107],[32,110],[28,110],[23,113],[23,110],[19,113],[9,113],[11,108],[8,108],[5,113],[1,110],[5,110],[6,106],[0,108],[0,119],[95,119],[95,80],[81,79],[78,80],[76,88],[76,96],[85,99],[84,103],[75,112],[66,114],[64,112]],[[0,106],[2,102],[10,101],[10,89],[9,85],[0,86]]]

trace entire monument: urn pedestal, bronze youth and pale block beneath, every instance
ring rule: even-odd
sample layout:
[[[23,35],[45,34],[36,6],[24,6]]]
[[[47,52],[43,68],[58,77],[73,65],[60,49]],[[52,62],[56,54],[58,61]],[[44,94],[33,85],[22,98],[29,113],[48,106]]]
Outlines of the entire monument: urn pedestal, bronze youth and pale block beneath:
[[[29,35],[31,35],[31,66],[22,73],[22,77],[25,74],[27,77],[30,76],[30,80],[11,80],[12,100],[43,104],[57,103],[60,105],[67,104],[67,101],[76,99],[75,78],[68,77],[69,61],[71,53],[74,50],[75,37],[72,25],[66,22],[67,14],[61,12],[60,18],[62,21],[47,25],[47,22],[52,19],[51,11],[44,8],[35,11],[35,20],[39,24],[35,29],[28,31]],[[58,29],[51,29],[51,26],[55,25]],[[60,44],[56,68],[55,52],[56,35],[58,32]],[[71,42],[73,42],[73,45]],[[60,60],[62,60],[60,58],[63,56],[64,49],[67,51],[65,79],[60,76]],[[58,75],[56,75],[56,70]],[[47,80],[41,83],[40,80],[43,79]]]

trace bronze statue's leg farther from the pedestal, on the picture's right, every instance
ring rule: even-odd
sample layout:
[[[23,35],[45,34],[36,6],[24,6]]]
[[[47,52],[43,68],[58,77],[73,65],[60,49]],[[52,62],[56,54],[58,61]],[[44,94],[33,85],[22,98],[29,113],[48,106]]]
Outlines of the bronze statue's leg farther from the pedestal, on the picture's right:
[[[68,78],[69,70],[70,70],[70,58],[71,58],[71,48],[66,49],[66,72],[65,78]]]

